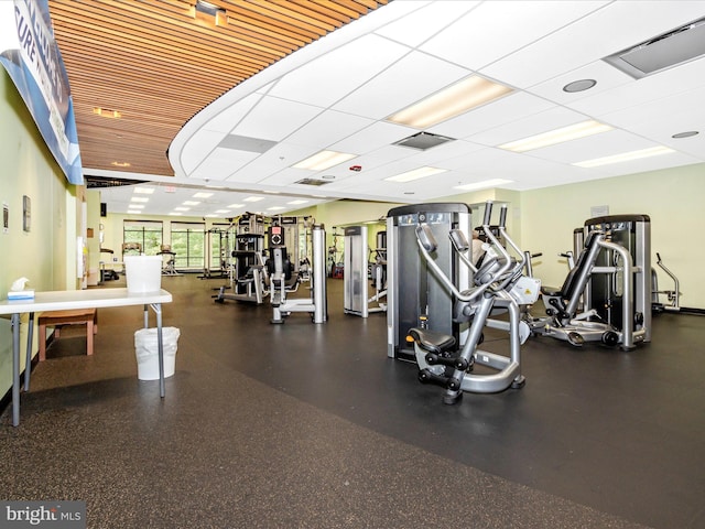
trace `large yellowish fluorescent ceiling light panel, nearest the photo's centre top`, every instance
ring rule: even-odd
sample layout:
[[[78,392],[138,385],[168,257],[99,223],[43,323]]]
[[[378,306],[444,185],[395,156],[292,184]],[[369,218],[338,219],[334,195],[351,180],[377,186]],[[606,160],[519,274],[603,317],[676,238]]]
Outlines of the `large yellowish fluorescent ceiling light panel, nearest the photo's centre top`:
[[[388,121],[425,129],[473,108],[498,99],[512,89],[473,75],[387,118]]]

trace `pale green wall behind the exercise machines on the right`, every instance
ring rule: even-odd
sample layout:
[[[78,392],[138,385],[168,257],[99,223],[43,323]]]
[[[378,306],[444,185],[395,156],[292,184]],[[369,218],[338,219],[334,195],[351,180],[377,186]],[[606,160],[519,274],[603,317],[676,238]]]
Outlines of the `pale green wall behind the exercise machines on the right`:
[[[567,268],[557,255],[573,248],[573,229],[590,218],[592,207],[608,206],[609,215],[647,214],[652,266],[658,251],[681,282],[681,305],[703,309],[704,198],[705,164],[527,191],[520,201],[521,241],[525,249],[543,252],[534,274],[545,284],[560,287]],[[663,272],[659,288],[673,288]]]

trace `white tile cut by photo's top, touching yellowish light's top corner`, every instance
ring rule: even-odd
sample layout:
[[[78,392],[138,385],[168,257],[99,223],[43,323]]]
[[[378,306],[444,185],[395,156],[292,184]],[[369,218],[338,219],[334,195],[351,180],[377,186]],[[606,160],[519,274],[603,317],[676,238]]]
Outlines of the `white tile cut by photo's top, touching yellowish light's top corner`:
[[[436,9],[444,9],[443,3],[438,2]],[[421,45],[420,50],[477,71],[607,3],[609,2],[482,2]],[[495,78],[508,79],[502,76]]]

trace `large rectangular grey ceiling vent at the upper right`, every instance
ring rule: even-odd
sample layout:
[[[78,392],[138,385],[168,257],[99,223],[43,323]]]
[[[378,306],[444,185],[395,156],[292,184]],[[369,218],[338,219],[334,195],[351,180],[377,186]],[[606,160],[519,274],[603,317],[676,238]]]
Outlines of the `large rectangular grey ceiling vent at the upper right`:
[[[705,18],[605,57],[604,61],[640,79],[705,54]]]

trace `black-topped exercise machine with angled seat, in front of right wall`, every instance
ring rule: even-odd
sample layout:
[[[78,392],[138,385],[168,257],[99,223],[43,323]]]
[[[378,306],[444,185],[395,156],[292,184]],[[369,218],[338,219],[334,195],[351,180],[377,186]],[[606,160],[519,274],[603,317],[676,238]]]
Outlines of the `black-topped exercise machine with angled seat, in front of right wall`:
[[[650,342],[649,217],[590,218],[582,234],[574,233],[574,240],[575,267],[560,289],[543,288],[549,317],[531,322],[532,333],[575,346],[601,342],[625,350],[634,348],[637,343]]]

